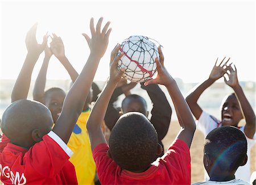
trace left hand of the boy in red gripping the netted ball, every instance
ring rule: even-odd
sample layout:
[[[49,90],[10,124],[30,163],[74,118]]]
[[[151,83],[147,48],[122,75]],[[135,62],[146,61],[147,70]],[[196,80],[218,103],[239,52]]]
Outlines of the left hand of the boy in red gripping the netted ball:
[[[117,69],[117,63],[118,61],[122,58],[122,56],[125,53],[120,53],[118,54],[118,56],[116,56],[119,48],[121,46],[119,44],[117,44],[115,46],[115,48],[113,49],[113,51],[111,52],[111,56],[110,56],[110,76],[109,76],[109,81],[111,82],[115,82],[118,83],[121,80],[122,74],[125,72],[125,69],[121,69],[118,70]]]

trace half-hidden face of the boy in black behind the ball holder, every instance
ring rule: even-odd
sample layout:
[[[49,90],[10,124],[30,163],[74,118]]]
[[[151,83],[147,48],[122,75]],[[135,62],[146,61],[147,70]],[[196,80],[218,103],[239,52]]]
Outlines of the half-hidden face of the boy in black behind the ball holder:
[[[141,112],[143,115],[147,117],[148,112],[147,112],[147,107],[139,101],[132,100],[129,103],[125,103],[124,106],[122,107],[123,113],[127,112]]]

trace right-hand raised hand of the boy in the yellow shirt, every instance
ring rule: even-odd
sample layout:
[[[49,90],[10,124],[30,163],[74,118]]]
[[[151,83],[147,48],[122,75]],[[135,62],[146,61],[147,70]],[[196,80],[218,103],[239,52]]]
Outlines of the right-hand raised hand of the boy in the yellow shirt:
[[[61,37],[58,37],[55,33],[52,33],[53,37],[50,43],[51,45],[51,52],[55,55],[56,58],[60,59],[65,57],[65,49],[64,44]]]

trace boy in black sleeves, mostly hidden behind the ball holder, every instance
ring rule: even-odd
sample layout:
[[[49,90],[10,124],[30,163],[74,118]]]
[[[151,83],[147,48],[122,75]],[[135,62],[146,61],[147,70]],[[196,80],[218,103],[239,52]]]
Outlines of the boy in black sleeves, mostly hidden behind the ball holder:
[[[108,105],[108,109],[104,118],[105,123],[110,131],[112,131],[118,118],[123,113],[141,112],[144,116],[148,117],[147,102],[142,96],[139,96],[137,94],[126,95],[125,99],[122,100],[122,106],[120,111],[121,113],[119,113],[117,108],[114,108],[114,101],[112,100],[116,100],[117,97],[123,93],[127,94],[127,89],[130,90],[133,87],[134,83],[129,83],[128,85],[117,87],[115,89],[112,98],[110,99],[110,103]],[[156,132],[158,133],[159,144],[164,148],[162,140],[166,136],[171,123],[171,106],[168,103],[166,95],[163,93],[158,85],[151,84],[148,86],[144,86],[144,84],[141,83],[141,88],[147,91],[147,94],[148,96],[150,96],[150,99],[153,103],[150,122],[154,125]],[[163,154],[164,149],[158,157],[161,157]]]

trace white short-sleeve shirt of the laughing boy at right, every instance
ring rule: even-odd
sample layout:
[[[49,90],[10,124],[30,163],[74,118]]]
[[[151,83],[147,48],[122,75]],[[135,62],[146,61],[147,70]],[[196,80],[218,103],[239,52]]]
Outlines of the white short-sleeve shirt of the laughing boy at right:
[[[210,131],[212,131],[214,128],[221,127],[221,121],[218,120],[216,117],[213,117],[212,115],[209,115],[207,112],[202,112],[199,120],[196,121],[196,127],[203,132],[204,136],[206,137]],[[244,133],[245,127],[240,127],[239,129]],[[253,139],[248,138],[245,134],[246,140],[247,140],[247,156],[248,160],[246,165],[238,167],[235,175],[237,179],[245,180],[246,182],[249,182],[250,180],[250,150],[253,148],[253,145],[255,144],[255,134]],[[205,171],[205,179],[209,179],[209,176],[207,172]]]

